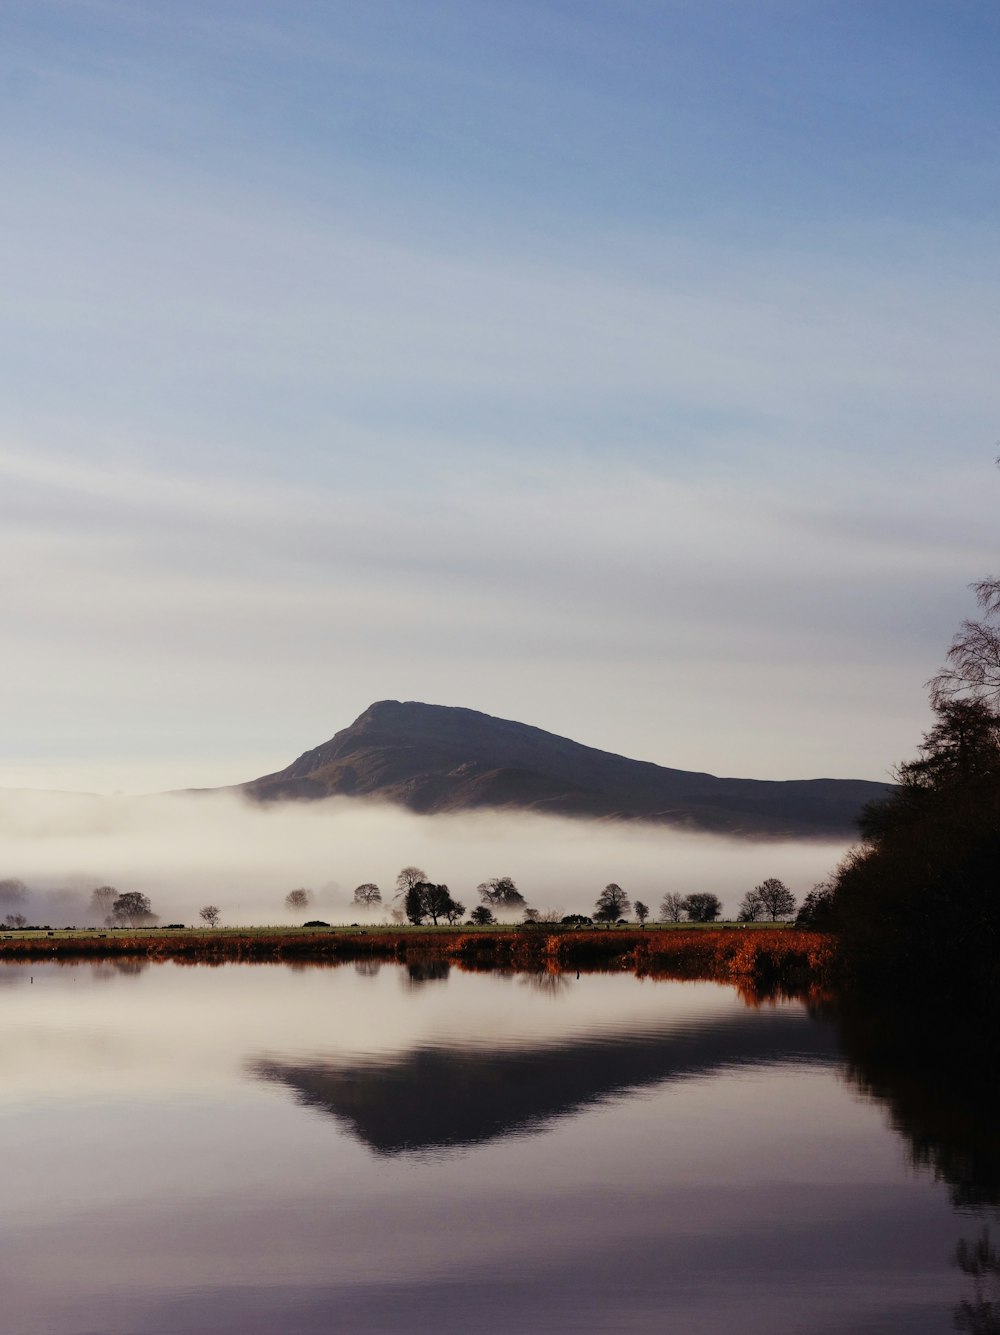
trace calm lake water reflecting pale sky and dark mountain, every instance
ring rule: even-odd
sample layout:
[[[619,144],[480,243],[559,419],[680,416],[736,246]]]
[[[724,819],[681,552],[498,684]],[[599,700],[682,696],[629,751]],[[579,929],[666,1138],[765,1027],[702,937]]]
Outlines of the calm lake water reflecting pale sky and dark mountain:
[[[857,1015],[395,965],[0,1007],[4,1335],[1000,1330],[993,1109]]]

